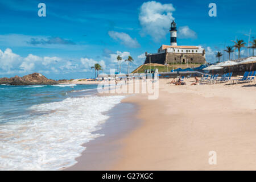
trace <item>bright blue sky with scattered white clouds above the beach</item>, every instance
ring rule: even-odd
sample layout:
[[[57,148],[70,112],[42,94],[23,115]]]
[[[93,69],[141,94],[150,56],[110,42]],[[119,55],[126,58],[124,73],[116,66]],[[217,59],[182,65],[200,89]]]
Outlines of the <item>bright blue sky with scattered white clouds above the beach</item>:
[[[216,17],[208,14],[212,2]],[[46,5],[46,16],[38,15],[39,3]],[[127,73],[127,56],[134,59],[132,71],[143,64],[145,52],[170,44],[172,20],[177,45],[202,46],[213,63],[216,52],[233,46],[232,40],[242,39],[247,46],[245,34],[251,30],[256,37],[255,7],[252,0],[0,0],[0,77],[33,72],[52,79],[94,77],[96,63],[101,73],[117,69],[118,55]],[[246,57],[247,49],[241,54]],[[224,53],[221,61],[227,59]]]

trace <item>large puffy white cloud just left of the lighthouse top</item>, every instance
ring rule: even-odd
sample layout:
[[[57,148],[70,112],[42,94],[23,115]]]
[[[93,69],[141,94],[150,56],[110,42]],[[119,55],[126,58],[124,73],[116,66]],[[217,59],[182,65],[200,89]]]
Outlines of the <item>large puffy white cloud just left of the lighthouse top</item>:
[[[172,12],[175,11],[172,4],[163,4],[155,1],[144,2],[139,12],[139,23],[142,26],[142,34],[152,36],[155,42],[159,42],[169,31],[171,21],[174,20]]]

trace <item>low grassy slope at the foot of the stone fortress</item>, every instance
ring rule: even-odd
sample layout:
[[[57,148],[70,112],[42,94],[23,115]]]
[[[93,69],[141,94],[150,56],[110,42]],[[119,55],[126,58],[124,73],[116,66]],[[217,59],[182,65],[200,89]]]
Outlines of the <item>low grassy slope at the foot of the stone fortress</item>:
[[[170,72],[172,69],[177,69],[177,68],[195,68],[199,67],[201,64],[174,64],[174,65],[169,65],[168,66],[168,71]],[[158,69],[158,72],[167,72],[167,66],[164,66],[163,64],[151,64],[151,69]],[[150,69],[150,64],[142,64],[140,65],[137,69],[135,69],[131,73],[144,73],[146,69]]]

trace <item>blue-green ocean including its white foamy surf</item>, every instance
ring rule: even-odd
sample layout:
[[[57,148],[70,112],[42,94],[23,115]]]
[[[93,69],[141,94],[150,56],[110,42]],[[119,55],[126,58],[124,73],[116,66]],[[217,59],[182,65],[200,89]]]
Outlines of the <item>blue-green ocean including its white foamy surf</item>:
[[[0,170],[73,166],[123,98],[97,85],[0,85]]]

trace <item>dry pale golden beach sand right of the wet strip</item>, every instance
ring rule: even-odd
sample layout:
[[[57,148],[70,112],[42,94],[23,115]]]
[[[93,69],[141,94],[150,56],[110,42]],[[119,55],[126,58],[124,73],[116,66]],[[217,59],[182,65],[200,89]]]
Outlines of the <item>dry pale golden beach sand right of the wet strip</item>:
[[[175,86],[167,84],[171,80],[159,81],[157,100],[136,94],[122,101],[138,106],[141,125],[112,141],[122,145],[104,169],[255,170],[255,82],[190,85],[190,78]],[[210,151],[217,154],[216,165],[208,163]],[[86,166],[84,157],[80,166]]]

